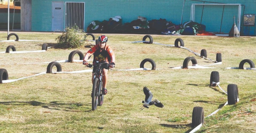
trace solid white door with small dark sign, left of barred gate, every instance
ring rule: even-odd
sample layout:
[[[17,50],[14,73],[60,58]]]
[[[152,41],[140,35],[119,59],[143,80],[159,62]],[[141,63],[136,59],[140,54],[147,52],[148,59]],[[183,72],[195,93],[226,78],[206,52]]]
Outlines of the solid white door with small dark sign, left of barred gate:
[[[64,11],[64,3],[63,2],[53,2],[52,3],[52,31],[63,31],[64,30],[64,19],[63,19],[63,11]]]

